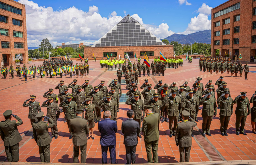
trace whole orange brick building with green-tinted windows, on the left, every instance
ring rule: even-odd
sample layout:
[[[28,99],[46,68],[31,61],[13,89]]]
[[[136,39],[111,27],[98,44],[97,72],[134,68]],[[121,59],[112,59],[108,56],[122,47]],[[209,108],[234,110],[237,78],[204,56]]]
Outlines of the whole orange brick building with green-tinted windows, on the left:
[[[28,63],[25,5],[13,0],[0,1],[0,66],[15,65],[15,57]]]

